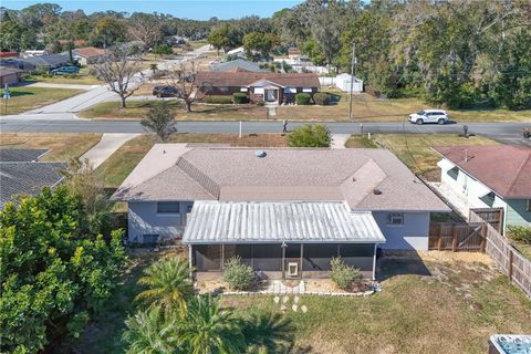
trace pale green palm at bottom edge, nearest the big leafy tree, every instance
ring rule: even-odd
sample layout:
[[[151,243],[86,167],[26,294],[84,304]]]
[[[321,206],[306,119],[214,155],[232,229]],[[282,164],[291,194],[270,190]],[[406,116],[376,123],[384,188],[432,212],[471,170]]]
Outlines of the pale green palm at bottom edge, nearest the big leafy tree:
[[[123,340],[128,354],[183,353],[174,335],[178,316],[164,316],[158,306],[150,306],[125,321]]]

